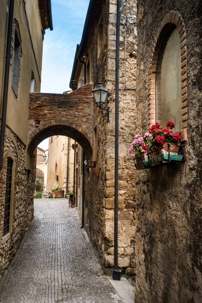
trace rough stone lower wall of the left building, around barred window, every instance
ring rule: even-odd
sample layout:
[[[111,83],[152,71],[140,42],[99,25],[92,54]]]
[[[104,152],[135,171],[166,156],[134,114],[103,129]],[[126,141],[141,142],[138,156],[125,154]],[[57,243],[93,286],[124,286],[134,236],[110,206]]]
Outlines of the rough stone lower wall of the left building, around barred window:
[[[30,192],[33,190],[33,175],[25,170],[25,146],[13,132],[6,128],[4,167],[0,172],[0,278],[15,255],[22,237],[33,218]],[[12,228],[3,237],[7,159],[12,158],[14,174],[14,199],[11,211]]]

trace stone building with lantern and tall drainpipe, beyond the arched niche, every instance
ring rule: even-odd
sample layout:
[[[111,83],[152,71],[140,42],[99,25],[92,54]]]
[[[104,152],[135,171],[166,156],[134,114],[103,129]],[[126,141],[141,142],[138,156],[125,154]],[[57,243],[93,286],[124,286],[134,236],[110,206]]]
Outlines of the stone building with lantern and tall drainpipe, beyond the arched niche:
[[[106,267],[114,265],[114,183],[115,183],[115,54],[116,1],[90,1],[80,45],[77,45],[70,81],[72,89],[101,80],[109,91],[110,123],[94,105],[92,159],[99,177],[86,171],[89,195],[85,199],[85,227]],[[136,124],[136,2],[121,4],[120,32],[120,140],[119,140],[119,267],[134,274],[134,170],[127,155],[129,137]],[[86,68],[79,61],[84,61]],[[85,73],[85,77],[84,77]],[[86,177],[86,178],[88,178]]]

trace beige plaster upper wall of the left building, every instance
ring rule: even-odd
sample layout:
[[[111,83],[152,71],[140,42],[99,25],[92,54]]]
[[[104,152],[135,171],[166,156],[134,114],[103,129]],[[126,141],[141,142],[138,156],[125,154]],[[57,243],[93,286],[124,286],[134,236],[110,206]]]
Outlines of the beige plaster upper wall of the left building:
[[[0,6],[0,93],[2,102],[3,82],[4,82],[4,66],[7,41],[7,13],[8,0],[2,0]],[[26,14],[28,24],[26,23]],[[26,9],[23,2],[16,1],[14,7],[14,19],[19,24],[21,37],[21,64],[20,64],[20,82],[18,98],[16,98],[12,88],[12,64],[10,68],[8,108],[7,108],[7,125],[17,134],[17,136],[27,144],[28,114],[29,114],[29,92],[31,84],[31,72],[35,77],[35,91],[40,91],[40,76],[42,62],[42,25],[38,9],[38,1],[28,1]],[[31,33],[31,39],[29,36]],[[33,48],[32,48],[33,45]],[[12,63],[12,61],[11,61]],[[2,108],[2,104],[1,104]]]

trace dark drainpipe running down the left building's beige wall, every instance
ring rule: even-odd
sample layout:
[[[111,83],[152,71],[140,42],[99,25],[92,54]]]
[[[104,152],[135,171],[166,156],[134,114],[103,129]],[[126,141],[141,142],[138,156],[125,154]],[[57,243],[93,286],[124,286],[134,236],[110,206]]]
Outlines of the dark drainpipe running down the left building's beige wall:
[[[10,6],[9,6],[9,23],[8,23],[8,34],[7,34],[6,63],[5,63],[5,74],[4,74],[4,93],[3,93],[3,103],[2,103],[2,121],[1,121],[1,134],[0,134],[0,171],[2,170],[4,165],[4,140],[5,140],[5,132],[6,132],[6,116],[7,116],[10,61],[11,61],[11,41],[12,41],[12,31],[13,31],[14,1],[15,0],[10,0]]]

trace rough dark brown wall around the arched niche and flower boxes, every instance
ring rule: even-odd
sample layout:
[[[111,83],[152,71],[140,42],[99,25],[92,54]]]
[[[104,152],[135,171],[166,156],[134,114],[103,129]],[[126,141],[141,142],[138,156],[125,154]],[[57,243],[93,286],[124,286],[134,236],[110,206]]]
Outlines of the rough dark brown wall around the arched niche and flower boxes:
[[[138,1],[137,131],[147,129],[150,62],[159,27],[182,17],[187,48],[186,161],[137,172],[135,302],[201,302],[201,24],[200,1]],[[183,98],[182,98],[183,101]]]

